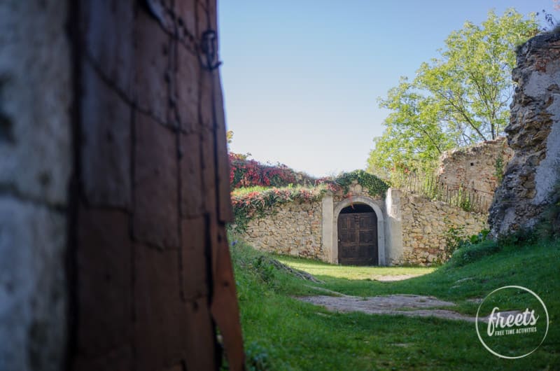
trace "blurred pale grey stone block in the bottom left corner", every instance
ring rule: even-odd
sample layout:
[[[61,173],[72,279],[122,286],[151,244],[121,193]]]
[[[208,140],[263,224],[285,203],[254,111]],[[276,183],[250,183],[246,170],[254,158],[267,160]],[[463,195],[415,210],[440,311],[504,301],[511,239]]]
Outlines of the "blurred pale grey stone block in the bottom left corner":
[[[0,196],[0,369],[60,370],[66,216]]]

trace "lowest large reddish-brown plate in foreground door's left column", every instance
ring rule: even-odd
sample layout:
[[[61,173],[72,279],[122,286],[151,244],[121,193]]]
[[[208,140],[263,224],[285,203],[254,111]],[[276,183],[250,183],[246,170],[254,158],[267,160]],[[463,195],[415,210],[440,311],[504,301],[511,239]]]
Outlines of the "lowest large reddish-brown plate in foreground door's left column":
[[[78,358],[97,358],[130,343],[129,218],[123,211],[78,211]]]

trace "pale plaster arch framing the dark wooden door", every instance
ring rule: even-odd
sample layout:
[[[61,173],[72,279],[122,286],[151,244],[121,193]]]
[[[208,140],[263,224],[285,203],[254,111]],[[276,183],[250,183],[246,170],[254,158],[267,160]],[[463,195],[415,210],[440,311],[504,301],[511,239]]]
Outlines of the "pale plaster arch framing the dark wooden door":
[[[332,213],[332,262],[338,262],[338,216],[340,211],[351,204],[366,204],[371,207],[377,216],[377,261],[385,265],[385,220],[383,211],[374,200],[369,197],[354,196],[338,202]]]

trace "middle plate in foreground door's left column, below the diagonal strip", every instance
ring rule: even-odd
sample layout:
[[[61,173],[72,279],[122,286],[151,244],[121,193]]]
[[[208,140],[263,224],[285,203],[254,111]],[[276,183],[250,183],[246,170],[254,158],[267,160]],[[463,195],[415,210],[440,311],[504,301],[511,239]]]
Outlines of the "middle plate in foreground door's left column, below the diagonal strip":
[[[130,207],[130,134],[132,108],[83,64],[81,97],[82,179],[87,202]]]

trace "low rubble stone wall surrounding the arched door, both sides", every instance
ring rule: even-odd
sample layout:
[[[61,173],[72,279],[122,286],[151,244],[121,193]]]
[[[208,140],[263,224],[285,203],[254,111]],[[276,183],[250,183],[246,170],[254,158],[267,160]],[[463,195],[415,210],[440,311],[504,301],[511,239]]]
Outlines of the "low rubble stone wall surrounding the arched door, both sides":
[[[352,202],[365,203],[377,208],[381,265],[430,265],[443,258],[449,228],[465,238],[488,228],[486,214],[392,188],[385,201],[358,190],[351,197],[327,194],[316,202],[280,204],[251,219],[241,238],[261,251],[337,262],[337,213]]]

